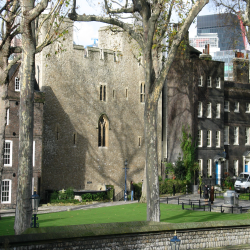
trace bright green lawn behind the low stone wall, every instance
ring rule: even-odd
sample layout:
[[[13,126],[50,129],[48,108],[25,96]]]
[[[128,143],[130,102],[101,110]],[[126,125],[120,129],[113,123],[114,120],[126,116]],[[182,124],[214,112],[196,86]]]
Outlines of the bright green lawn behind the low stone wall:
[[[40,227],[145,221],[147,218],[146,204],[141,203],[41,214],[38,217]],[[250,213],[221,214],[213,212],[197,212],[192,210],[182,210],[181,205],[161,204],[162,222],[183,223],[245,219],[250,219]],[[2,220],[0,220],[0,235],[14,235],[13,226],[14,217],[2,218]]]

